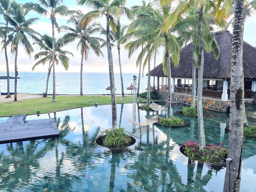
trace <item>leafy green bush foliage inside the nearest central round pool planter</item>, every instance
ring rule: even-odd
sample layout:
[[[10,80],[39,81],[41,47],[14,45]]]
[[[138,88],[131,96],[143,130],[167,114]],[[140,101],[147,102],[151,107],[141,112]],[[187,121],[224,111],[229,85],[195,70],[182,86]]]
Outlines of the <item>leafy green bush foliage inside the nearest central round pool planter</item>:
[[[109,148],[121,148],[127,147],[132,142],[131,136],[126,134],[127,132],[123,127],[112,129],[106,129],[103,136],[103,146]]]

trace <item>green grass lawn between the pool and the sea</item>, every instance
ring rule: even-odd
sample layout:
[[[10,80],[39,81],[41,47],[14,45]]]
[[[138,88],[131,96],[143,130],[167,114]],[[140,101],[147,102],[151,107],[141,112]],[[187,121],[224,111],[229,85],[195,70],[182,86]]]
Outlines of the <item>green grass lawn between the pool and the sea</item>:
[[[126,95],[121,100],[120,96],[117,96],[116,102],[117,104],[132,103],[132,97],[132,95]],[[146,102],[145,98],[137,98],[137,102],[139,100],[143,103]],[[111,96],[56,96],[55,102],[52,102],[52,97],[9,101],[0,103],[0,117],[18,114],[31,115],[36,114],[37,111],[40,111],[41,114],[58,112],[65,109],[94,106],[95,103],[98,105],[111,104]]]

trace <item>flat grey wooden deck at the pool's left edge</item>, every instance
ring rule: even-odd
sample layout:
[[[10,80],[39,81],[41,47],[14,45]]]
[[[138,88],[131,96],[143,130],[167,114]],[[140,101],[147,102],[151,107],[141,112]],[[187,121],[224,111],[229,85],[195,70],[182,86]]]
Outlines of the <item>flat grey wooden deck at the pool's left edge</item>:
[[[26,116],[15,115],[6,122],[0,123],[0,143],[59,136],[58,127],[53,118],[26,121]]]

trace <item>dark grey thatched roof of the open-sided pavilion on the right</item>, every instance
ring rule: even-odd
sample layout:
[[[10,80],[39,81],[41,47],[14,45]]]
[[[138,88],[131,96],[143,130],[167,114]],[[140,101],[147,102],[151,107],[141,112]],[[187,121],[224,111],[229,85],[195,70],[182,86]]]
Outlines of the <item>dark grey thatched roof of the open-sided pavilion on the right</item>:
[[[204,51],[203,78],[230,78],[232,34],[229,31],[216,32],[215,37],[220,46],[220,57],[216,60],[212,51],[209,54]],[[173,78],[192,77],[193,48],[192,43],[188,44],[180,52],[179,65],[174,67],[173,63],[171,64],[171,76]],[[256,48],[247,42],[243,44],[243,67],[244,78],[256,78]],[[162,70],[162,63],[150,71],[150,76],[165,76]],[[196,77],[198,77],[198,69],[196,70]]]

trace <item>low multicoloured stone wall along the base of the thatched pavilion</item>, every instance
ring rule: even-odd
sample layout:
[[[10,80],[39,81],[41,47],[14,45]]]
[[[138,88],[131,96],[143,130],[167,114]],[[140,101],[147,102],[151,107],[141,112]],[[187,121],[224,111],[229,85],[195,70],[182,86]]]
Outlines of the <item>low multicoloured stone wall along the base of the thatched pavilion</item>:
[[[160,95],[160,98],[164,101],[168,100],[168,92],[157,90],[157,94]],[[255,98],[245,99],[245,105],[254,104]],[[172,93],[171,98],[172,103],[186,103],[190,104],[191,95],[181,94],[181,93]],[[205,109],[211,109],[219,112],[229,112],[230,100],[224,101],[215,98],[204,97],[202,99],[203,107]],[[197,105],[197,97],[195,97],[195,105]]]

